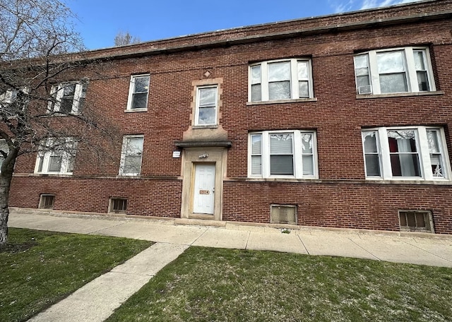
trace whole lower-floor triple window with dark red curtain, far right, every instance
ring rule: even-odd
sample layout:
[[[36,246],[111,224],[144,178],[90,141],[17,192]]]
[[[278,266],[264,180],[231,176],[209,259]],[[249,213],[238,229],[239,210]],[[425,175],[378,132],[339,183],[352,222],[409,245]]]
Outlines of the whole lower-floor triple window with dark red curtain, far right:
[[[367,179],[451,178],[444,129],[380,127],[362,131]]]

